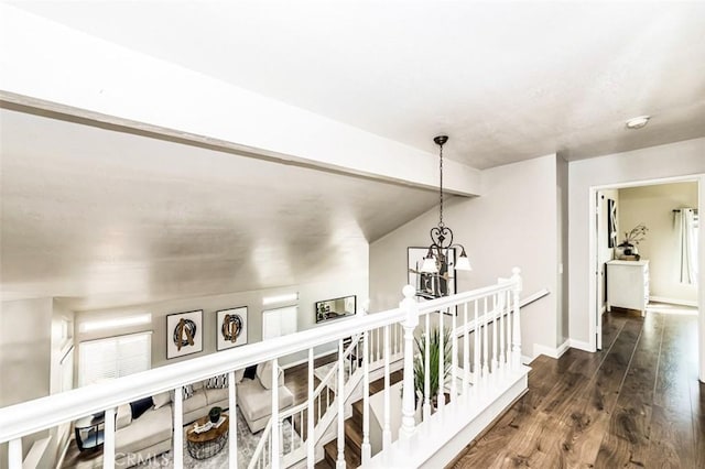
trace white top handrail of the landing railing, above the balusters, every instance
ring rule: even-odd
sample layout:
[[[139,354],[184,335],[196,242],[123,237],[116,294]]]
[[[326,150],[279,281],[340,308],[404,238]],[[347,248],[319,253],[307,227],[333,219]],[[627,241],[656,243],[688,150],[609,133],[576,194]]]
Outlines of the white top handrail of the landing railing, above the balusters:
[[[429,314],[454,304],[499,293],[514,285],[514,282],[519,281],[507,281],[498,285],[420,303],[417,310],[420,315]],[[106,383],[66,391],[61,393],[61,402],[57,401],[58,395],[54,394],[2,407],[0,408],[0,443],[14,440],[107,408],[116,408],[124,402],[180,389],[187,383],[318,347],[366,330],[400,323],[406,317],[406,310],[401,308],[355,316],[315,329],[197,357]]]

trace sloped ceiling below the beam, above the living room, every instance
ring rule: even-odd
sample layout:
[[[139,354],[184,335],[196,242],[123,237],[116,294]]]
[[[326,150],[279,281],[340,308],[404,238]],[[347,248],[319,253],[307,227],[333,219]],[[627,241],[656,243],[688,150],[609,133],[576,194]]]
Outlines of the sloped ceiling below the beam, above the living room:
[[[0,142],[2,299],[89,309],[322,281],[437,201],[7,109]]]

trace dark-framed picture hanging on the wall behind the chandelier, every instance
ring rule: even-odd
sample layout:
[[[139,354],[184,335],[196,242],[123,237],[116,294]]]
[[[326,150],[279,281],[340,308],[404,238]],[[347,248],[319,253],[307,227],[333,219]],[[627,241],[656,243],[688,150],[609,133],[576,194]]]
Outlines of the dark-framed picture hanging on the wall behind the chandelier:
[[[440,265],[438,273],[421,272],[423,258],[427,252],[429,248],[408,248],[409,284],[416,288],[416,296],[426,299],[454,295],[456,292],[455,269],[452,265],[455,265],[457,258],[455,248],[448,250],[451,259]]]

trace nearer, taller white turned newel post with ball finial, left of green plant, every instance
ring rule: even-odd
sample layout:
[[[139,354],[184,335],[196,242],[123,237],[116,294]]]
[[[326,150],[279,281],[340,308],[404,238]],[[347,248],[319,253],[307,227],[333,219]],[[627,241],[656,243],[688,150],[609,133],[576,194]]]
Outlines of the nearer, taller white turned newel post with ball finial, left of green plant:
[[[404,388],[401,404],[401,428],[399,438],[410,438],[414,433],[414,329],[419,325],[419,306],[414,299],[415,288],[411,285],[402,290],[404,299],[399,304],[400,309],[406,312],[404,328]]]

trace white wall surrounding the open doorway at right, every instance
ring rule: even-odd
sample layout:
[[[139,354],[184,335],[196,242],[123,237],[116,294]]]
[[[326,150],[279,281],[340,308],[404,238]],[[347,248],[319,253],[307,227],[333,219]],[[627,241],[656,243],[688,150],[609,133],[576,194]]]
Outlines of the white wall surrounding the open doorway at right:
[[[598,186],[620,185],[630,182],[665,177],[697,175],[705,173],[705,139],[694,139],[668,145],[652,146],[632,152],[617,153],[589,160],[571,162],[570,174],[570,275],[571,339],[590,342],[590,321],[594,317],[590,305],[590,279],[594,269],[589,265],[590,252],[590,189]],[[701,188],[699,205],[703,205]],[[701,237],[701,285],[703,284],[703,237]],[[701,309],[703,309],[701,295]],[[703,315],[702,315],[703,316]],[[701,361],[705,361],[704,359]]]

